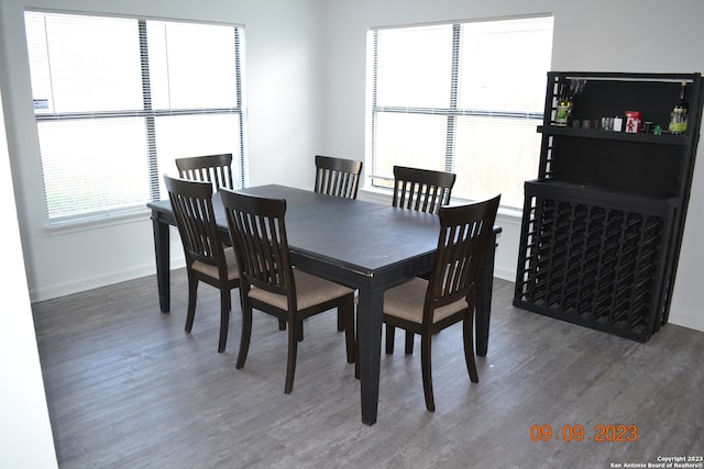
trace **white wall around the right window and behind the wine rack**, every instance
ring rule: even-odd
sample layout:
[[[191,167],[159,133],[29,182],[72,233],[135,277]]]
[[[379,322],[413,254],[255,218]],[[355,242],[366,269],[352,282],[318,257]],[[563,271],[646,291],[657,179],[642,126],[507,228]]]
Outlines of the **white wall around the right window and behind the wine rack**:
[[[365,35],[372,26],[553,13],[554,70],[704,72],[701,0],[328,0],[323,9],[323,145],[329,154],[349,158],[364,155]],[[697,308],[704,278],[698,243],[704,238],[703,186],[700,161],[670,312],[670,322],[700,331],[704,331],[704,314]],[[499,213],[497,223],[504,233],[496,275],[513,281],[520,221]]]

